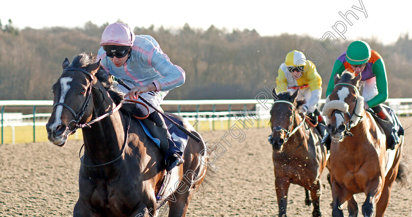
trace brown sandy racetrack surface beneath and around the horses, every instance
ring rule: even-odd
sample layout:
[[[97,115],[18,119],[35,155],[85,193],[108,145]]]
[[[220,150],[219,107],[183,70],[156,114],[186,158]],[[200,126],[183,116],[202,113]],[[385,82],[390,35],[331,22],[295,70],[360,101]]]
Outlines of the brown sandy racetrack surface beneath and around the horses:
[[[401,121],[405,128],[412,125],[412,118],[401,118]],[[267,142],[270,128],[250,128],[244,132],[244,141],[229,140],[232,146],[227,146],[227,151],[216,159],[217,173],[207,178],[207,183],[191,201],[188,217],[277,216],[272,148]],[[217,143],[225,133],[208,131],[203,132],[203,137]],[[407,130],[403,153],[409,168],[411,135],[412,130]],[[80,145],[82,141],[69,141],[63,148],[48,142],[0,145],[0,216],[72,216],[78,197]],[[323,216],[330,216],[332,197],[326,174],[327,170],[321,179],[321,209]],[[386,216],[411,217],[411,195],[411,185],[401,187],[395,183]],[[364,198],[363,194],[357,195],[359,208]],[[312,207],[305,206],[304,199],[303,188],[291,185],[289,217],[311,216]],[[344,213],[348,215],[346,207]]]

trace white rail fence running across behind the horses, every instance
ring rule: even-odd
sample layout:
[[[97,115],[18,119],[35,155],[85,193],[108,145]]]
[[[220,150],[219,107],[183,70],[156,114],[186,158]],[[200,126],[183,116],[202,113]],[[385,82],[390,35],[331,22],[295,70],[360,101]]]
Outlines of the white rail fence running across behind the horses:
[[[214,130],[215,124],[220,124],[220,128],[223,128],[223,124],[228,124],[234,121],[245,121],[246,119],[256,120],[259,127],[261,122],[267,121],[270,118],[269,110],[272,106],[272,99],[260,100],[260,99],[220,99],[220,100],[164,100],[163,106],[176,106],[177,112],[175,114],[180,115],[187,121],[206,121],[209,124],[209,129]],[[325,103],[324,99],[321,99],[318,103],[318,108],[322,108]],[[389,105],[398,115],[410,116],[412,114],[412,98],[392,98],[387,99],[386,104]],[[33,126],[33,142],[36,141],[35,127],[46,125],[51,113],[36,113],[36,108],[39,106],[52,107],[52,100],[0,100],[1,114],[0,114],[0,126],[1,126],[1,144],[3,144],[3,127],[10,126],[12,128],[12,138],[14,143],[14,127],[15,126]],[[192,106],[191,111],[181,112],[182,106]],[[201,106],[212,106],[211,111],[204,111],[200,109]],[[222,111],[222,105],[227,105],[227,110]],[[232,106],[237,107],[236,110],[232,110]],[[239,106],[240,105],[240,106]],[[243,106],[242,106],[243,105]],[[33,108],[32,114],[26,114],[20,112],[5,113],[6,107],[18,106],[26,107],[31,106]],[[219,111],[216,107],[220,106]],[[240,109],[239,109],[240,107]],[[248,110],[247,107],[253,107],[253,110]],[[14,109],[15,110],[15,109]],[[187,109],[186,109],[187,110]],[[249,116],[249,118],[248,118]],[[253,118],[250,118],[252,117]],[[196,124],[196,128],[198,124]]]

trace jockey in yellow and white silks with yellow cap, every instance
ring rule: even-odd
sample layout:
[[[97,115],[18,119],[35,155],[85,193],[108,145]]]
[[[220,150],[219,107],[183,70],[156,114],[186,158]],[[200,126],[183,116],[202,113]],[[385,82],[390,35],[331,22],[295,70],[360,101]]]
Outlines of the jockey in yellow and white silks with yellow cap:
[[[305,54],[298,50],[292,50],[286,54],[284,63],[281,64],[276,78],[276,92],[290,92],[291,94],[299,90],[296,100],[305,100],[305,104],[300,107],[299,112],[308,114],[312,120],[318,117],[319,122],[325,124],[316,105],[322,95],[322,78],[316,71],[316,66],[307,60]],[[318,124],[317,128],[322,137],[325,135],[323,129]]]

